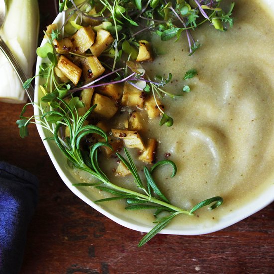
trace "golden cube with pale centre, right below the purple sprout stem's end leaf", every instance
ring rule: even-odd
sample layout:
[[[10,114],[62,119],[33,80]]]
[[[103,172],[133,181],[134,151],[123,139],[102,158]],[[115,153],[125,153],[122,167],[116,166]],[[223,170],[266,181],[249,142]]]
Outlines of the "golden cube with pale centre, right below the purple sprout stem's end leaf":
[[[144,91],[138,90],[136,87],[129,83],[125,83],[121,105],[128,107],[138,107],[142,109],[145,96],[146,94]]]

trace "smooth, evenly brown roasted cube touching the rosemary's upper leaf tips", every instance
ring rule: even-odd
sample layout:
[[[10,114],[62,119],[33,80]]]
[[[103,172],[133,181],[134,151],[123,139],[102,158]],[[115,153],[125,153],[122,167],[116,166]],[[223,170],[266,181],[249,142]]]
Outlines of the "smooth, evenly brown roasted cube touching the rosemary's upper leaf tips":
[[[94,95],[92,104],[97,104],[94,112],[107,119],[112,118],[118,110],[114,99],[98,93]]]

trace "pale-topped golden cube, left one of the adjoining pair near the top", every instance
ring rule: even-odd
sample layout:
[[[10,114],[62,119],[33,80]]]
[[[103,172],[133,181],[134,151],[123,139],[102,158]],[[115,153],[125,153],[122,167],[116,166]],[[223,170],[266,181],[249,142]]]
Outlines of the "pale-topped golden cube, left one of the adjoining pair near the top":
[[[84,53],[94,43],[95,33],[91,26],[81,27],[72,37],[73,50],[76,53]]]

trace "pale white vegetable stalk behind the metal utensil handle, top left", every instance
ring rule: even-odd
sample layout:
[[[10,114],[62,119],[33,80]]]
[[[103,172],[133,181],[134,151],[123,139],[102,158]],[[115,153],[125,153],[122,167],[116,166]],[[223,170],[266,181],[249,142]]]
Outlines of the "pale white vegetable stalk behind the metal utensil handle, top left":
[[[7,14],[1,30],[6,42],[27,77],[31,77],[36,59],[39,32],[37,0],[6,0]],[[27,96],[12,66],[0,52],[0,101],[25,103]]]

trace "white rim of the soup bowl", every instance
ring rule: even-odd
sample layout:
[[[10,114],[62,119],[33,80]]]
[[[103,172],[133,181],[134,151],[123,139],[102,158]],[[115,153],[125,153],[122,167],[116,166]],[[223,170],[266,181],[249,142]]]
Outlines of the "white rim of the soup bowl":
[[[63,24],[64,23],[64,13],[59,13],[53,23],[57,24]],[[47,39],[44,38],[41,46],[44,45],[47,42]],[[36,63],[36,75],[39,74],[39,66],[42,63],[42,58],[37,57],[37,63]],[[35,78],[35,96],[34,96],[34,115],[38,116],[40,114],[40,110],[38,108],[38,105],[40,104],[39,97],[40,91],[39,91],[39,84],[40,84],[40,77]],[[46,131],[39,123],[36,123],[36,127],[38,130],[38,133],[42,139],[42,141],[46,138]],[[127,227],[129,229],[133,229],[140,232],[149,232],[154,226],[151,223],[151,225],[139,225],[134,223],[133,221],[127,221],[126,219],[121,219],[120,217],[115,216],[114,214],[110,213],[108,210],[104,209],[103,207],[99,206],[98,204],[95,204],[92,202],[91,199],[89,199],[84,193],[81,192],[81,188],[76,188],[72,185],[69,176],[67,175],[67,166],[64,164],[64,162],[60,163],[56,159],[56,152],[54,152],[54,149],[57,149],[57,146],[55,144],[50,144],[47,141],[43,141],[43,144],[47,150],[47,153],[56,168],[56,171],[58,172],[59,176],[63,180],[63,182],[66,184],[66,186],[81,200],[83,200],[85,203],[90,205],[92,208],[97,210],[98,212],[102,213],[112,221],[116,222],[117,224],[120,224],[124,227]],[[72,173],[72,171],[70,171]],[[238,223],[239,221],[251,216],[252,214],[260,211],[267,205],[271,204],[274,201],[274,184],[270,186],[270,189],[267,188],[265,191],[261,193],[257,198],[254,200],[251,200],[250,202],[246,203],[241,208],[238,208],[234,210],[232,213],[225,214],[223,217],[220,217],[219,220],[216,223],[210,224],[210,227],[205,226],[201,224],[201,226],[197,227],[196,229],[190,228],[190,229],[178,229],[178,228],[172,228],[172,223],[167,227],[164,228],[159,233],[161,234],[176,234],[176,235],[201,235],[201,234],[208,234],[212,232],[216,232],[219,230],[222,230],[224,228],[227,228],[235,223]]]

